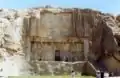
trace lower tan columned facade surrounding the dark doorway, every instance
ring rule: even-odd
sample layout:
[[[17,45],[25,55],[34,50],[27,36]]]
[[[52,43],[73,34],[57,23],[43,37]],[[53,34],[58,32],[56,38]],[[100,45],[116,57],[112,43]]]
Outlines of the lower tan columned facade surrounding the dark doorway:
[[[34,42],[31,44],[32,59],[34,60],[44,60],[44,61],[54,61],[55,60],[55,50],[61,50],[62,56],[75,56],[78,60],[83,60],[83,44],[81,43],[40,43]],[[65,52],[68,52],[67,54]],[[69,53],[70,52],[70,53]],[[70,56],[71,57],[71,56]],[[36,59],[35,59],[36,58]],[[71,57],[72,58],[72,57]],[[70,60],[72,61],[72,60]]]

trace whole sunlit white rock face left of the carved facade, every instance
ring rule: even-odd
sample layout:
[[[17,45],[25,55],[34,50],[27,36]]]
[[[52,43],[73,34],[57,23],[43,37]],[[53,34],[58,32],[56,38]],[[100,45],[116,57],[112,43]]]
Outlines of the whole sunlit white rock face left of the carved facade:
[[[0,75],[30,75],[22,47],[23,18],[16,10],[0,11]],[[22,53],[22,54],[21,54]],[[27,68],[28,67],[28,68]]]

